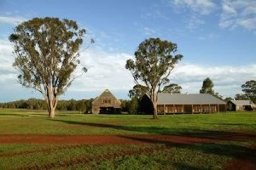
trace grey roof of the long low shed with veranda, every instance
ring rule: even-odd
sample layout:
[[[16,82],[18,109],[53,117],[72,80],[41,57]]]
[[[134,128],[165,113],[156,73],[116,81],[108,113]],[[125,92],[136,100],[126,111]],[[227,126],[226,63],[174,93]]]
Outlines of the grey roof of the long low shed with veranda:
[[[158,105],[225,105],[211,94],[158,94]]]

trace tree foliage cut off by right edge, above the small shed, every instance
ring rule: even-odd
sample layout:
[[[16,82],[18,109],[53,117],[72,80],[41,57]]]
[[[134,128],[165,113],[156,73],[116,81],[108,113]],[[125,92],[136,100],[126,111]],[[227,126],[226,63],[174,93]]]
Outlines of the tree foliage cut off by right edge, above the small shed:
[[[250,80],[241,85],[242,91],[246,94],[247,98],[256,103],[256,81]]]

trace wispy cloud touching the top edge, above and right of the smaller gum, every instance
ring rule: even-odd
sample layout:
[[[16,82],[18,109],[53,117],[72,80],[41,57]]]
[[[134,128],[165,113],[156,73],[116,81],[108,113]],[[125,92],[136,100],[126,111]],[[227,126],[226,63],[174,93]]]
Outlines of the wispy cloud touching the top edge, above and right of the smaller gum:
[[[210,14],[216,8],[212,0],[171,0],[171,4],[177,9],[189,9],[197,14]]]

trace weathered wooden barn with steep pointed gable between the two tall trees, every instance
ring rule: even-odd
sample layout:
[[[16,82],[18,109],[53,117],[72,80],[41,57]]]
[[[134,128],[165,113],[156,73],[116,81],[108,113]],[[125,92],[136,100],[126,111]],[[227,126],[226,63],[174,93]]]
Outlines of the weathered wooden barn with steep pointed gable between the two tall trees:
[[[121,102],[108,89],[92,101],[92,114],[119,113],[120,110]]]

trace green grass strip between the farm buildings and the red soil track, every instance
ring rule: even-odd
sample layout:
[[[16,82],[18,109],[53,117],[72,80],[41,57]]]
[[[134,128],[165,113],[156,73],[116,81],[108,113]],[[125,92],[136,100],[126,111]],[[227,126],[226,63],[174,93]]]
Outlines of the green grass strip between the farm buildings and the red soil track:
[[[200,131],[256,132],[256,112],[159,116],[80,115],[46,111],[0,110],[2,134],[173,134]]]

